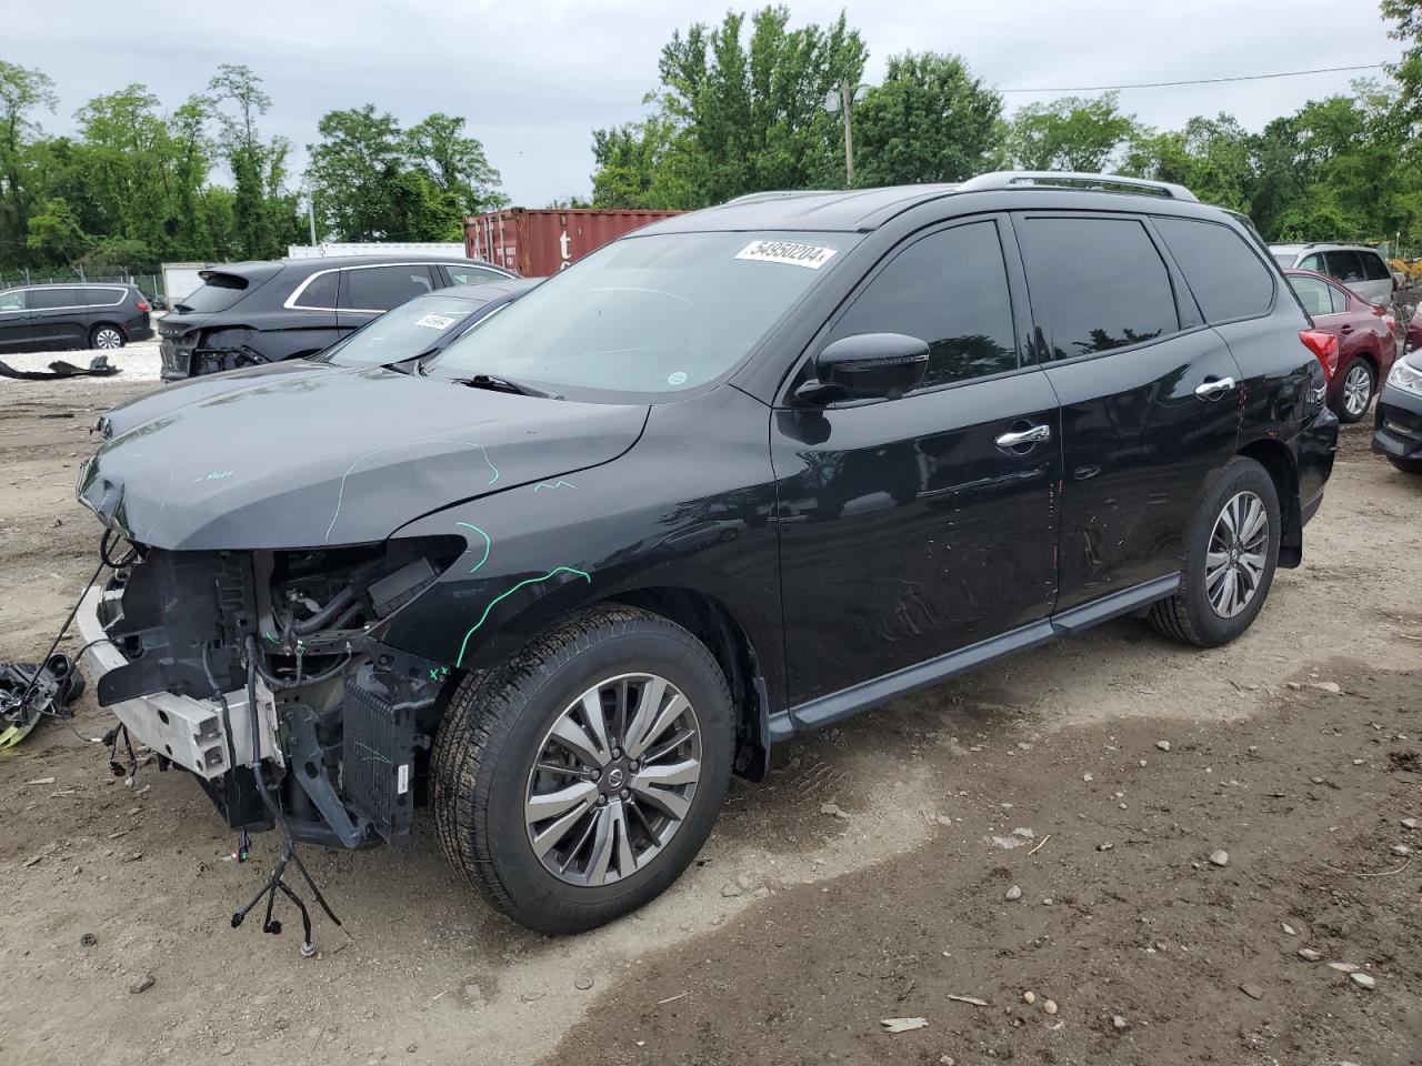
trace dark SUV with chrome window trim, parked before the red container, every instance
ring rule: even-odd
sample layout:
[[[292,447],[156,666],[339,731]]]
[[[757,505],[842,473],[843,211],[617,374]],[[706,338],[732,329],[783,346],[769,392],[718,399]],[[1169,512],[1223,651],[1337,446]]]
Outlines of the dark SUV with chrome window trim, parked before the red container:
[[[158,327],[164,381],[311,355],[412,297],[513,277],[408,254],[226,263],[198,276],[202,286]]]

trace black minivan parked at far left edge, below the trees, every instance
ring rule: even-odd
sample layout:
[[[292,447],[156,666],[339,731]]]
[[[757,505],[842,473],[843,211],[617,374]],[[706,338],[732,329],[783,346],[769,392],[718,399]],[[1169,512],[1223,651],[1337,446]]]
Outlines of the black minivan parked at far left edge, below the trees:
[[[0,351],[122,348],[154,335],[152,304],[135,286],[23,286],[0,293]]]

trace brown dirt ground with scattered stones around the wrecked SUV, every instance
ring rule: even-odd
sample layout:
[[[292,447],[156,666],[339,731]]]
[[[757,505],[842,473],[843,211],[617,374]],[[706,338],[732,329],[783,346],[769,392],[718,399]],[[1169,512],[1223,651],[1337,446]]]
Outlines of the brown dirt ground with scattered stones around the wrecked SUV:
[[[94,567],[77,463],[134,391],[3,397],[0,658]],[[233,930],[273,841],[228,861],[191,779],[112,777],[85,695],[0,759],[0,1062],[1419,1063],[1422,479],[1367,441],[1234,645],[1121,621],[786,745],[579,938],[492,914],[422,823],[307,851],[351,938]]]

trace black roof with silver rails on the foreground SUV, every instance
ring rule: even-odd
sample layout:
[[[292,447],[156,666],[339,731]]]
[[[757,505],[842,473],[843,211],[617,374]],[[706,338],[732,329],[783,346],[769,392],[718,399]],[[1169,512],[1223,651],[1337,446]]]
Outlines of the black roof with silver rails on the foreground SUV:
[[[1025,190],[1052,193],[1149,195],[1166,203],[1196,205],[1194,195],[1179,185],[1103,173],[1048,171],[998,171],[966,182],[892,185],[876,189],[808,189],[757,192],[714,208],[677,215],[638,230],[641,233],[691,233],[697,230],[801,229],[867,232],[920,203],[973,192]]]

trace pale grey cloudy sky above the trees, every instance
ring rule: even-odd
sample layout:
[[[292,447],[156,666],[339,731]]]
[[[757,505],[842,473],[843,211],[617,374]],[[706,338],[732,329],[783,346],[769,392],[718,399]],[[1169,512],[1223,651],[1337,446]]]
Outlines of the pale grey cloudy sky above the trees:
[[[431,111],[464,115],[515,203],[542,206],[590,188],[590,135],[641,114],[657,53],[673,30],[717,21],[727,0],[46,0],[9,4],[0,58],[40,67],[57,82],[53,131],[73,126],[85,99],[129,81],[175,107],[219,63],[245,63],[273,99],[266,129],[304,156],[331,108],[365,102],[404,124]],[[737,4],[749,10],[751,4]],[[1374,0],[1140,0],[933,3],[795,0],[795,24],[840,9],[863,34],[867,80],[907,48],[954,51],[998,88],[1116,85],[1270,74],[1392,60]],[[1132,90],[1122,105],[1179,126],[1230,111],[1249,128],[1310,98],[1347,91],[1357,74],[1230,85]],[[1008,108],[1051,94],[1005,97]]]

